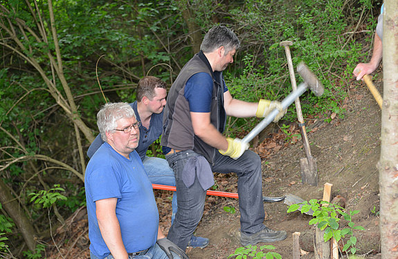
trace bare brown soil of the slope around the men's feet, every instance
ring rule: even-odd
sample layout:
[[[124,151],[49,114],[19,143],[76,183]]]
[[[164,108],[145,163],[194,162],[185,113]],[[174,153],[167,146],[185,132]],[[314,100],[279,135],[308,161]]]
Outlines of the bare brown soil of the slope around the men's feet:
[[[381,91],[381,81],[374,83]],[[311,130],[308,135],[311,153],[316,157],[318,168],[318,186],[301,184],[299,160],[305,157],[305,153],[300,140],[292,137],[286,141],[289,138],[287,135],[275,131],[255,148],[262,157],[263,194],[277,197],[291,193],[304,200],[321,200],[324,184],[333,184],[332,198],[341,195],[346,209],[360,211],[354,215],[353,222],[364,227],[365,231],[355,232],[359,242],[362,242],[357,243],[359,251],[356,254],[362,255],[361,258],[381,258],[377,213],[381,110],[365,84],[354,82],[347,93],[343,117],[331,114],[330,123],[325,122],[325,118],[318,118],[311,119],[307,124]],[[297,126],[291,126],[291,133],[299,133]],[[235,175],[215,173],[215,176],[218,191],[237,191]],[[161,227],[167,233],[170,228],[171,193],[155,191],[155,195],[161,214]],[[224,207],[234,208],[236,212],[228,213]],[[271,243],[275,246],[273,251],[280,253],[282,258],[293,258],[292,233],[314,231],[308,224],[312,217],[299,212],[287,213],[287,205],[283,202],[264,203],[264,209],[264,224],[288,233],[286,240]],[[48,247],[47,258],[62,258],[60,253],[64,258],[89,258],[87,218],[76,214],[63,229],[58,229],[55,234],[59,251],[54,246]],[[188,256],[191,259],[228,258],[235,249],[242,246],[239,242],[239,229],[237,200],[208,196],[203,218],[195,234],[210,238],[210,244],[204,249],[188,248]],[[314,253],[307,252],[302,251],[302,258],[315,258]]]

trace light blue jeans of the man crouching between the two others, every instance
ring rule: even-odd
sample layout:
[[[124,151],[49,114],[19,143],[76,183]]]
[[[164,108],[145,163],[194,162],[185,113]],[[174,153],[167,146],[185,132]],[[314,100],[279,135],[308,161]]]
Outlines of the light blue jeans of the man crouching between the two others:
[[[145,156],[143,160],[145,172],[152,184],[176,186],[174,172],[168,162],[159,157]],[[177,213],[177,193],[174,191],[172,198],[172,224]]]

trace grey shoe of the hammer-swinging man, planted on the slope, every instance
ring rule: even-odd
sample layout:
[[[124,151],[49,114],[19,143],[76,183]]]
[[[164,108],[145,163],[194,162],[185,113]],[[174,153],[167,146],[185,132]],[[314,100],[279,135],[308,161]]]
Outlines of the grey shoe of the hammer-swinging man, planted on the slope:
[[[275,242],[284,240],[287,238],[286,231],[275,231],[265,227],[262,231],[259,231],[252,235],[240,233],[240,242],[242,246],[246,247],[248,244],[257,244],[258,242]]]

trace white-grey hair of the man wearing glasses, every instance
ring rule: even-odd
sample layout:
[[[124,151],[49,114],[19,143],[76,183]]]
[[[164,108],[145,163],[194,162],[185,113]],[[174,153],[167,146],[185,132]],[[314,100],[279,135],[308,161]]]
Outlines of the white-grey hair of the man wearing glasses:
[[[117,122],[119,119],[132,117],[136,118],[136,113],[127,102],[104,104],[97,113],[97,126],[102,140],[107,142],[106,133],[114,132],[114,128],[118,126]]]

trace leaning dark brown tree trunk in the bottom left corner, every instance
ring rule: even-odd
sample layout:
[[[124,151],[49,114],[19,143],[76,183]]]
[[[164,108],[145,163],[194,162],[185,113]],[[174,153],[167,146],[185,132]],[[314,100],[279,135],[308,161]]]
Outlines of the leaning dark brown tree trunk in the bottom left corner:
[[[12,221],[17,225],[19,231],[28,246],[30,251],[35,251],[37,233],[30,220],[23,213],[23,209],[19,207],[19,202],[12,196],[8,191],[8,186],[4,184],[3,180],[0,180],[0,202],[8,215],[12,218]]]

